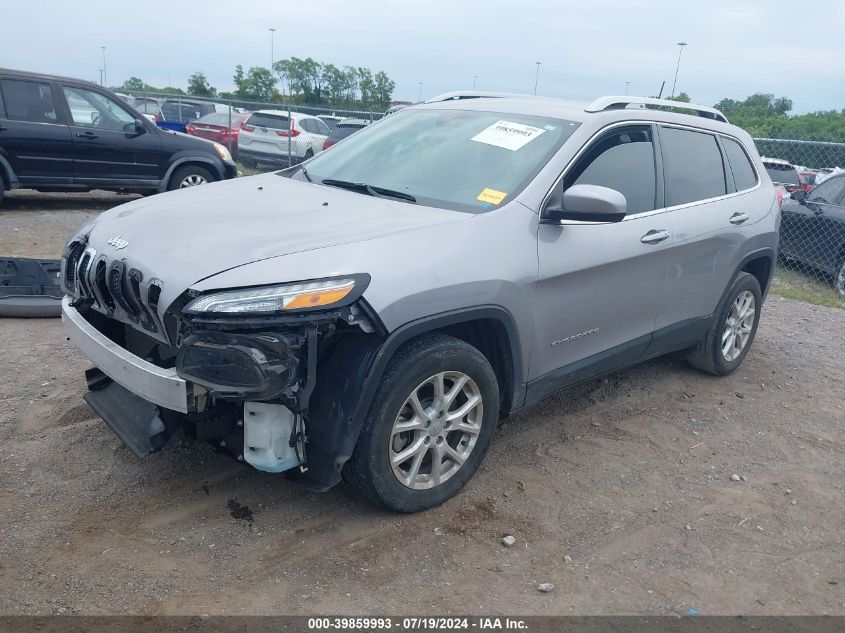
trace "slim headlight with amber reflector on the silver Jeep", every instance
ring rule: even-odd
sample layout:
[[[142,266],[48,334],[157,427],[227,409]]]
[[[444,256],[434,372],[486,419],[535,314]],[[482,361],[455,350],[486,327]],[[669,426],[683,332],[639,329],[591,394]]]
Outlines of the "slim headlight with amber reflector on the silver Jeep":
[[[290,312],[332,306],[349,297],[356,279],[326,279],[305,283],[212,292],[191,301],[185,312],[237,314],[242,312]],[[364,283],[364,285],[366,285]],[[359,287],[356,295],[363,292]]]

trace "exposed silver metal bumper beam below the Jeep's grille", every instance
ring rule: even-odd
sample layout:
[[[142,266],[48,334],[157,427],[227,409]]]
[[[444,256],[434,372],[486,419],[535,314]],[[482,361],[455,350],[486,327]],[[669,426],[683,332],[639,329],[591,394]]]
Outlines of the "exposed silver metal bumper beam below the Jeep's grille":
[[[162,369],[126,351],[88,323],[62,300],[62,323],[68,337],[106,376],[135,395],[165,409],[188,412],[188,383],[173,369]]]

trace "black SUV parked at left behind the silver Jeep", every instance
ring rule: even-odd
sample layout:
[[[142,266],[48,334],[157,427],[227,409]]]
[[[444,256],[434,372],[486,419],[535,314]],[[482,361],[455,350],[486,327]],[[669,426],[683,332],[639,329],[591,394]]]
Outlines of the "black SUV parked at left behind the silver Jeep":
[[[6,189],[155,193],[234,178],[219,143],[157,128],[100,86],[0,68]]]

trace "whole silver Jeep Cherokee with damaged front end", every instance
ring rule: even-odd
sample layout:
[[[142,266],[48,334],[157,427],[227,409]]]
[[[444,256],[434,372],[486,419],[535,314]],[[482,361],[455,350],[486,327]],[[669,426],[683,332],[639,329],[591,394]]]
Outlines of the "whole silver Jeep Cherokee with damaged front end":
[[[451,94],[103,213],[64,253],[63,314],[85,399],[138,455],[184,430],[413,512],[551,393],[676,350],[734,371],[779,218],[712,108]]]

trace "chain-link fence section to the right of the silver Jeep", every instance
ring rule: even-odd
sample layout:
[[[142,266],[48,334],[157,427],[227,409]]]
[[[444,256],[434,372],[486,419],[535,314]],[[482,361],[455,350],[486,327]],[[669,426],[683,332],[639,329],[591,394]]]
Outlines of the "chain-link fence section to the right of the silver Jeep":
[[[775,290],[845,307],[845,143],[754,142],[783,199]]]

